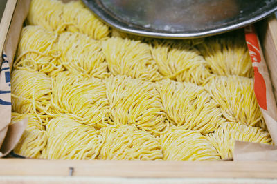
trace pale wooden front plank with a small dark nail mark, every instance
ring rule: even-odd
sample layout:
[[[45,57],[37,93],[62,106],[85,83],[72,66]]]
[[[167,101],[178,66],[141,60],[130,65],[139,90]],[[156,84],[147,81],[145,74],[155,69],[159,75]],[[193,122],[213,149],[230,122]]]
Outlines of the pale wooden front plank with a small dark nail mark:
[[[0,176],[277,178],[277,162],[0,159]]]

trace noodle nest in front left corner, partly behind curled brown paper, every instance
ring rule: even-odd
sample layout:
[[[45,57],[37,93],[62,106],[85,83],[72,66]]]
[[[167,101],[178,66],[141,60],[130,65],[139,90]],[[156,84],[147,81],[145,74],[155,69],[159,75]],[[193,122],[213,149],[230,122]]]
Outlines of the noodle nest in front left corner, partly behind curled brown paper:
[[[17,143],[14,152],[15,154],[30,158],[41,158],[48,136],[39,119],[33,114],[12,113],[11,123],[17,123],[26,118],[28,119],[26,130],[21,136],[19,143]]]

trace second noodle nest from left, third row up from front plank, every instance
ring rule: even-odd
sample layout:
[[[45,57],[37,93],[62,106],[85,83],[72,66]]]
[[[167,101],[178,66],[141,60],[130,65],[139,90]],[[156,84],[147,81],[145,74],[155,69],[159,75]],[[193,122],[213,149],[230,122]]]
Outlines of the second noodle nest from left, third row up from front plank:
[[[100,41],[83,34],[64,32],[59,36],[57,48],[62,52],[60,60],[67,70],[100,79],[109,76]]]

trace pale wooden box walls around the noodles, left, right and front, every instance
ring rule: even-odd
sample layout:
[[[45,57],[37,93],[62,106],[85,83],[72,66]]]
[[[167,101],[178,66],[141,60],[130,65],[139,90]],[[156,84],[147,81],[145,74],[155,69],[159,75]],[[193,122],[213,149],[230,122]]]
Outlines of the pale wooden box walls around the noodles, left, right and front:
[[[21,25],[12,21],[28,7],[28,0],[9,0],[0,24],[0,50],[8,32]],[[21,18],[22,19],[22,18]],[[256,24],[274,94],[277,96],[277,19],[271,16]],[[15,52],[16,48],[10,52]],[[64,161],[0,159],[0,176],[105,176],[146,178],[277,178],[277,162],[265,161]]]

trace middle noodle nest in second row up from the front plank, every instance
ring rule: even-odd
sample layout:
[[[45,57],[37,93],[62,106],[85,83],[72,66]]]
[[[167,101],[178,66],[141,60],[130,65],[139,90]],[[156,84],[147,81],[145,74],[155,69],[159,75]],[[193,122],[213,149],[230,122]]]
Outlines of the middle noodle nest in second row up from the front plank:
[[[111,124],[134,124],[154,133],[166,128],[166,114],[153,83],[127,76],[111,76],[105,83]]]

